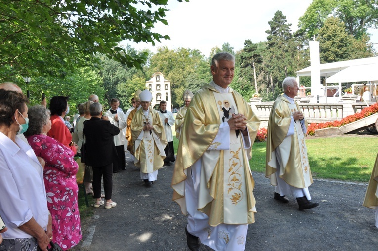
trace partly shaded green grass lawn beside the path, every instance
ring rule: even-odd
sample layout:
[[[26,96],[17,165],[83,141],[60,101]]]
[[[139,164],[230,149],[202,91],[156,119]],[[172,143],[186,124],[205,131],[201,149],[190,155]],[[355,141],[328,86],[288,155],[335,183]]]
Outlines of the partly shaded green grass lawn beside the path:
[[[174,138],[177,153],[178,140]],[[368,182],[378,151],[371,137],[332,137],[306,140],[313,178]],[[255,142],[250,167],[265,172],[266,142]]]

